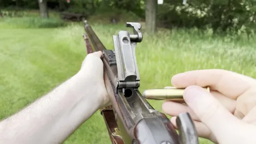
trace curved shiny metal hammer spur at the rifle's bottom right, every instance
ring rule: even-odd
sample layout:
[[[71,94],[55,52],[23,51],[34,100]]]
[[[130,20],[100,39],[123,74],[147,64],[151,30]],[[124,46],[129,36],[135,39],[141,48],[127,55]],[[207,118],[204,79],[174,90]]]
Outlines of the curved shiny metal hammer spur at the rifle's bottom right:
[[[181,144],[199,144],[194,122],[188,113],[179,114],[176,123]]]

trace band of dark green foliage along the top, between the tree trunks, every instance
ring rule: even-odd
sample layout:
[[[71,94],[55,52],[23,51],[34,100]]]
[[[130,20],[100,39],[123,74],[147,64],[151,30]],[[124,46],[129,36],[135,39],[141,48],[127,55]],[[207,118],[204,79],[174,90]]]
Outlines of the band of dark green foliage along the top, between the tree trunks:
[[[120,12],[145,19],[146,0],[47,0],[48,8],[86,15],[124,19]],[[164,28],[212,29],[214,32],[254,34],[256,0],[164,0],[158,5],[157,21]],[[38,8],[36,0],[0,0],[4,8]],[[107,16],[107,14],[109,16]],[[112,15],[113,14],[113,15]]]

